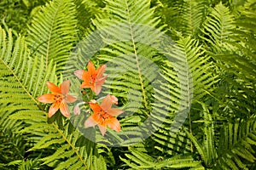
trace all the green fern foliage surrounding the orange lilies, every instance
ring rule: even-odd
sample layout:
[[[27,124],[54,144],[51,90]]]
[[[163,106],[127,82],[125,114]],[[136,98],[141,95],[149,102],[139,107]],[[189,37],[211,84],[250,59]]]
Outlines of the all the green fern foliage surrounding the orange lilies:
[[[255,11],[255,0],[1,1],[0,169],[256,169]],[[98,30],[102,37],[90,42]],[[175,42],[168,53],[140,43],[160,44],[160,32]],[[45,82],[59,84],[90,54],[97,65],[113,64],[103,88],[126,114],[125,133],[106,134],[116,141],[96,130],[91,142],[60,113],[48,119],[37,99],[48,93]],[[140,56],[160,74],[148,74]],[[127,65],[131,72],[116,77]],[[191,79],[179,82],[175,67]],[[150,80],[158,77],[155,88]],[[173,133],[182,90],[191,107]],[[148,116],[157,128],[142,141],[134,127]],[[108,146],[117,141],[123,147]]]

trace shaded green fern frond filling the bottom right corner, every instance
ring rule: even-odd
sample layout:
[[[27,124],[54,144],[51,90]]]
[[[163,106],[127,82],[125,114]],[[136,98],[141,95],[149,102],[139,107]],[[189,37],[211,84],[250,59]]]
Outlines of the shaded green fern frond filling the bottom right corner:
[[[255,160],[256,118],[224,124],[218,143],[216,168],[248,169]]]

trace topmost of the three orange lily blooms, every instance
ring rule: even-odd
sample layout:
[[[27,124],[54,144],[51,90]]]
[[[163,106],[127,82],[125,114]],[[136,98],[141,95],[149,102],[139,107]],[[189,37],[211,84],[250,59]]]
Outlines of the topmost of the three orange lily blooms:
[[[102,84],[105,82],[106,77],[102,77],[106,70],[107,65],[101,65],[97,70],[91,61],[88,62],[88,71],[78,70],[74,71],[74,75],[79,79],[84,80],[80,88],[90,88],[96,94],[100,94]]]

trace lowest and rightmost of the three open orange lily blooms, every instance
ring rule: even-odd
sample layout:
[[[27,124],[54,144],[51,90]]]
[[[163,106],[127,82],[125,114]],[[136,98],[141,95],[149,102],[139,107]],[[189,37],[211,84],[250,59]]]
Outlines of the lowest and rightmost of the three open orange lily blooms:
[[[98,125],[102,136],[106,133],[107,127],[119,132],[121,130],[120,123],[115,116],[119,116],[124,113],[117,108],[111,108],[113,105],[113,97],[109,94],[102,100],[102,104],[98,105],[94,102],[89,102],[90,109],[94,112],[84,122],[84,127],[94,127]]]

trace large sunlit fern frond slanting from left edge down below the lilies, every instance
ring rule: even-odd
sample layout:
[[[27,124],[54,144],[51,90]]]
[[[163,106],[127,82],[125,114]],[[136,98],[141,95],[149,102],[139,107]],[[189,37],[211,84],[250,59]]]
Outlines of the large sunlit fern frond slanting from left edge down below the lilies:
[[[15,133],[26,135],[26,140],[32,144],[26,148],[29,150],[28,154],[32,156],[33,152],[41,153],[38,161],[44,161],[49,167],[105,169],[106,164],[102,156],[97,155],[96,147],[90,146],[90,141],[84,139],[80,133],[73,132],[72,124],[70,122],[64,124],[60,115],[55,116],[58,123],[48,122],[44,105],[38,102],[37,97],[48,92],[45,82],[57,82],[52,62],[48,70],[45,70],[44,57],[41,60],[37,57],[33,59],[29,57],[30,53],[26,48],[24,37],[18,38],[14,45],[11,31],[8,37],[3,30],[0,35],[2,65],[0,101],[2,105],[9,105],[8,110],[1,109],[1,117],[9,114],[9,117],[3,117],[5,118],[3,125],[11,127],[15,122],[26,122],[26,126],[20,127],[23,128],[22,130],[14,129],[18,131]],[[53,155],[49,156],[49,154]]]

